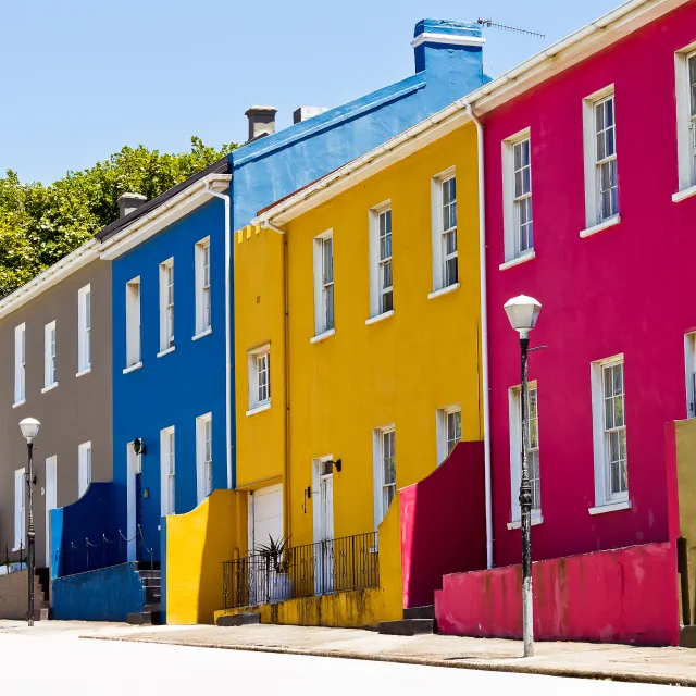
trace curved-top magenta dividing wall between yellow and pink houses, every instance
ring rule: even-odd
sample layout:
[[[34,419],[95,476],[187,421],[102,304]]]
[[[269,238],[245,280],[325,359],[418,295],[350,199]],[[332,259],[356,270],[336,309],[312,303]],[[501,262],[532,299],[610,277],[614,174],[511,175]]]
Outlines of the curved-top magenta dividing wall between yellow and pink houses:
[[[486,567],[483,443],[459,443],[400,500],[403,606],[432,605],[443,575]]]

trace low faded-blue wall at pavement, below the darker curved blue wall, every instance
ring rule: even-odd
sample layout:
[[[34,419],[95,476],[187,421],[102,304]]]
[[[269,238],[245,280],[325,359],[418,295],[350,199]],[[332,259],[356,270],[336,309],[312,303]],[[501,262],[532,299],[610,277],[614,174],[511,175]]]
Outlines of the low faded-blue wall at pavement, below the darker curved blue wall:
[[[125,621],[145,606],[134,563],[58,577],[52,591],[53,619],[61,621]]]

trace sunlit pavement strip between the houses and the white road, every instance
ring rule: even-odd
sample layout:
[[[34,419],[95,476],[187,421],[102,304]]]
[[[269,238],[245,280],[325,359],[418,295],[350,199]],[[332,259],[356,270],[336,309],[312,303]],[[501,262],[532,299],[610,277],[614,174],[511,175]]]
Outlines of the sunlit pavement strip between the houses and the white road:
[[[3,633],[24,636],[26,624],[0,621]],[[250,625],[134,627],[113,623],[49,621],[32,633],[46,638],[100,638],[117,643],[148,643],[275,652],[353,660],[411,663],[557,676],[610,679],[624,682],[696,686],[696,650],[636,648],[587,643],[538,643],[536,656],[521,657],[517,641],[460,638],[440,635],[383,636],[352,629]],[[97,643],[97,641],[84,641]],[[80,651],[83,647],[80,645]],[[245,658],[247,659],[247,658]],[[372,669],[372,668],[370,668]],[[594,688],[594,686],[593,686]]]

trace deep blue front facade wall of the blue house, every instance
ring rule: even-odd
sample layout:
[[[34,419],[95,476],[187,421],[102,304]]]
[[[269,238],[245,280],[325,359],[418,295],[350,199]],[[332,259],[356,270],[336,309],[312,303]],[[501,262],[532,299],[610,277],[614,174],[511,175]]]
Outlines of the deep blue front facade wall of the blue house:
[[[160,560],[161,555],[160,431],[174,426],[177,513],[188,512],[197,505],[196,419],[204,413],[212,413],[213,486],[227,487],[224,215],[224,202],[211,198],[113,261],[113,471],[117,524],[127,529],[127,444],[139,437],[146,446],[141,459],[142,534],[146,545],[154,551],[154,560]],[[191,340],[196,335],[195,245],[207,236],[210,236],[212,333]],[[172,257],[176,348],[158,358],[160,264]],[[125,288],[137,276],[140,276],[142,368],[123,374]]]

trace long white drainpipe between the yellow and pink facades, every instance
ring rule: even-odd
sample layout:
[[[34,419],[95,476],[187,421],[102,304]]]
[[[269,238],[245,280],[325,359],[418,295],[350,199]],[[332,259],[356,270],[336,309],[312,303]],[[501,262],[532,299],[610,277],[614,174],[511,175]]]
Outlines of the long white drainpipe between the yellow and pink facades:
[[[488,300],[486,297],[486,185],[484,181],[483,125],[471,103],[467,113],[476,125],[478,150],[478,275],[481,277],[481,352],[483,360],[483,447],[486,478],[486,564],[493,568],[493,494],[490,476],[490,399],[488,388]]]

